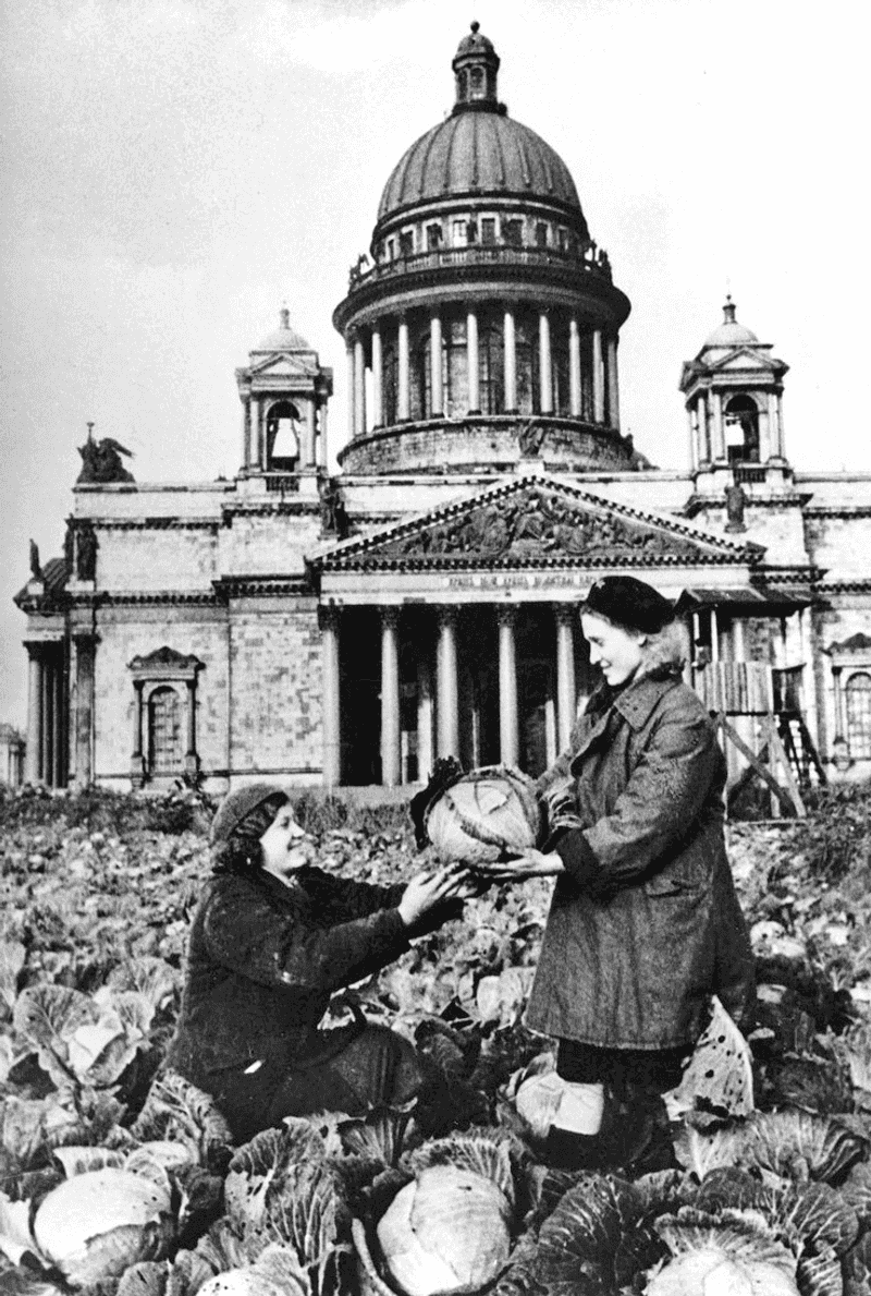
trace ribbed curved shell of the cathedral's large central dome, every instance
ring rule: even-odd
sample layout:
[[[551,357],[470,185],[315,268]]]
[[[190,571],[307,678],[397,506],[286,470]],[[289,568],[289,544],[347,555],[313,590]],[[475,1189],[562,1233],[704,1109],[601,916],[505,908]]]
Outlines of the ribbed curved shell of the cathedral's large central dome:
[[[456,113],[422,135],[393,167],[379,223],[400,209],[461,194],[541,197],[581,211],[568,167],[528,126],[498,111]]]

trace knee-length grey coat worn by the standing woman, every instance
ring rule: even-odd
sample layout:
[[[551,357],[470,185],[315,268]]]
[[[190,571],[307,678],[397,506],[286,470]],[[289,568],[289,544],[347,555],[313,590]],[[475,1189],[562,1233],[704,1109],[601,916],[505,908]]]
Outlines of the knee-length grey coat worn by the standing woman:
[[[712,993],[740,1019],[753,967],[723,842],[725,759],[676,677],[591,700],[540,780],[573,793],[527,1011],[535,1030],[607,1048],[692,1045]]]

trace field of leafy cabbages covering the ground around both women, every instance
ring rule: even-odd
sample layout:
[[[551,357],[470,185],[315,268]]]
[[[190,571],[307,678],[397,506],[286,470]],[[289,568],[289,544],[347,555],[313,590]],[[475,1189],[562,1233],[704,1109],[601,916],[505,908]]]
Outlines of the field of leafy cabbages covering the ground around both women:
[[[690,1076],[670,1103],[681,1168],[639,1151],[601,1174],[541,1160],[553,1058],[522,1013],[545,880],[492,888],[334,1001],[336,1021],[362,1010],[415,1041],[426,1100],[234,1147],[160,1065],[210,809],[182,791],[0,800],[4,1296],[871,1292],[870,789],[730,827],[755,1109]],[[298,813],[325,868],[421,866],[404,807]]]

